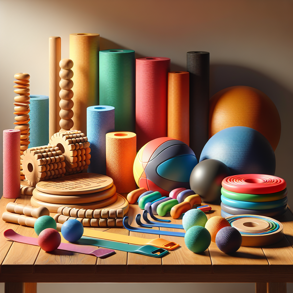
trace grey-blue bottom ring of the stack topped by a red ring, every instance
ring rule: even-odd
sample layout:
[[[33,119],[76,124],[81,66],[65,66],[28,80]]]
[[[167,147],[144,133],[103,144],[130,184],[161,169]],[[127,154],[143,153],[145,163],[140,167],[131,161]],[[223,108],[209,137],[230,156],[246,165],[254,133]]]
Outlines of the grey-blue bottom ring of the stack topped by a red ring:
[[[287,211],[287,205],[278,207],[276,209],[238,209],[236,207],[230,207],[229,205],[225,205],[223,202],[221,202],[221,208],[224,212],[232,215],[251,214],[265,217],[280,216],[282,214],[285,214],[285,212]]]

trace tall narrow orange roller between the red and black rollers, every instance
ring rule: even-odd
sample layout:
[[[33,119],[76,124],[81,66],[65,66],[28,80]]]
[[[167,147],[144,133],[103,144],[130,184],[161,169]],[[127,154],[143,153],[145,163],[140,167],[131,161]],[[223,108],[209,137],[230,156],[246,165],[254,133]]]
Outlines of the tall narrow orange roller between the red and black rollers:
[[[189,145],[189,72],[168,72],[168,137]]]

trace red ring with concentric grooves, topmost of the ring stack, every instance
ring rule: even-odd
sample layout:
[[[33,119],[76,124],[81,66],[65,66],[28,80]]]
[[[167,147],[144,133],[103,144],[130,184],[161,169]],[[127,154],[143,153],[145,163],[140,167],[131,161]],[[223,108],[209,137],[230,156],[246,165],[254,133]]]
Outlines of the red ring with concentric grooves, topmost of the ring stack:
[[[222,186],[229,191],[248,194],[275,193],[286,188],[280,177],[265,174],[239,174],[224,178]]]

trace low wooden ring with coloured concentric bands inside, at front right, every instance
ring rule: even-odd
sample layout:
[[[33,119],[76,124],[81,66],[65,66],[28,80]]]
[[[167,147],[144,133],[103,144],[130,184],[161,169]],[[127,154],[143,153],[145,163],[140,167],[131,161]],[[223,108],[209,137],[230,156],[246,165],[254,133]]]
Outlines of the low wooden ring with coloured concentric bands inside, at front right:
[[[236,215],[226,218],[242,236],[241,246],[266,246],[282,240],[283,225],[269,217]]]

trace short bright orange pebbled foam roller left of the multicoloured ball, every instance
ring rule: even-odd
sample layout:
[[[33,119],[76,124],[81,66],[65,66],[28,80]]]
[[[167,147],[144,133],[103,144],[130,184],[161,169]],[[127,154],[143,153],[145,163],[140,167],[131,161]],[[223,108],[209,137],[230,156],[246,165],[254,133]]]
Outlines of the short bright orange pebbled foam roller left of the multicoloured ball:
[[[106,174],[118,193],[134,190],[133,163],[136,156],[136,134],[120,131],[106,134]]]

